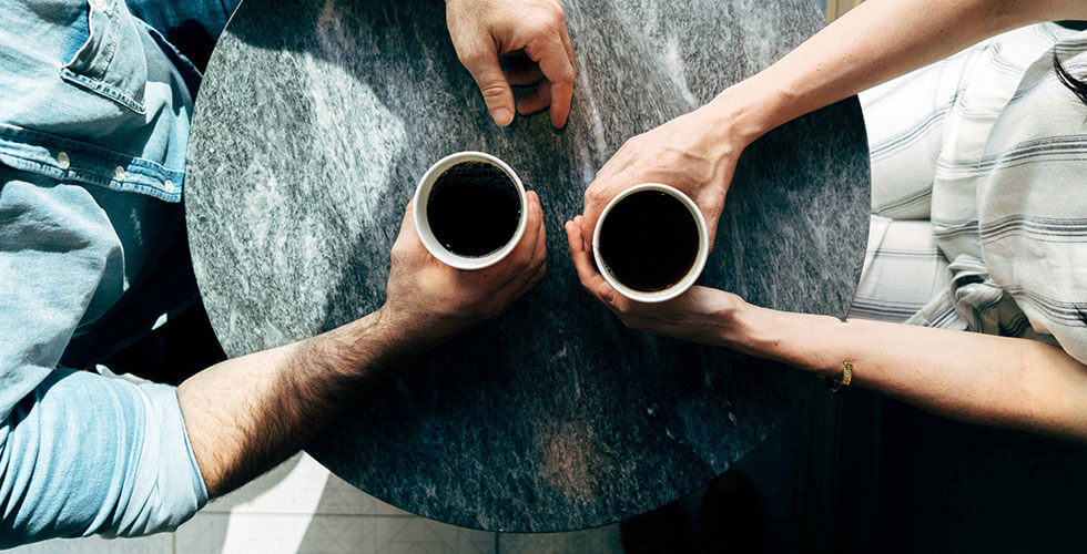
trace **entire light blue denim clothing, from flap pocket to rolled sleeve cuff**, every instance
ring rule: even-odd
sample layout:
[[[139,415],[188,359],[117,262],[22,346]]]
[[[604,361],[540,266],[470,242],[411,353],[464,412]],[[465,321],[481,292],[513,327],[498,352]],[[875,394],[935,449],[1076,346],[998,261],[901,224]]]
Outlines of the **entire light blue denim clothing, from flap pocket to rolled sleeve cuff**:
[[[173,388],[58,367],[184,288],[166,250],[200,74],[130,9],[203,9],[214,37],[228,6],[0,0],[0,548],[171,530],[207,502]]]

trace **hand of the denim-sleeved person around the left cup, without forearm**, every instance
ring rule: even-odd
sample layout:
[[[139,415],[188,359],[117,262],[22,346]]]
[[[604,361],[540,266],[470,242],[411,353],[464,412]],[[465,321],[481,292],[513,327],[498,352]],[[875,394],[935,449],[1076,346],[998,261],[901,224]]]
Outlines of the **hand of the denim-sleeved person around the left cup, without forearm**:
[[[408,203],[393,245],[388,294],[382,311],[389,321],[427,341],[444,340],[501,315],[547,270],[540,198],[528,192],[528,224],[521,242],[486,269],[454,269],[430,256],[415,232]]]

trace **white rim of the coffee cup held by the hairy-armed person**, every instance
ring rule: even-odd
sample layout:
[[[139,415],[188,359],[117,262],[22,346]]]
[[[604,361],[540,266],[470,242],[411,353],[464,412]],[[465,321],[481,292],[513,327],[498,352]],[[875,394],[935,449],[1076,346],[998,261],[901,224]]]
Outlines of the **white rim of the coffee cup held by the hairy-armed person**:
[[[465,162],[484,162],[501,170],[517,188],[517,197],[521,205],[521,215],[517,222],[517,230],[514,232],[514,236],[510,237],[505,246],[485,256],[464,256],[450,252],[435,238],[427,219],[427,202],[430,199],[430,189],[434,187],[434,183],[453,166]],[[521,183],[520,177],[517,176],[517,173],[506,162],[484,152],[458,152],[438,160],[427,170],[423,178],[419,179],[419,185],[415,189],[414,218],[415,232],[418,233],[419,239],[423,240],[423,246],[438,261],[457,269],[482,269],[499,263],[508,256],[517,247],[517,243],[520,243],[521,237],[525,236],[525,227],[528,225],[528,197],[525,195],[525,185]]]

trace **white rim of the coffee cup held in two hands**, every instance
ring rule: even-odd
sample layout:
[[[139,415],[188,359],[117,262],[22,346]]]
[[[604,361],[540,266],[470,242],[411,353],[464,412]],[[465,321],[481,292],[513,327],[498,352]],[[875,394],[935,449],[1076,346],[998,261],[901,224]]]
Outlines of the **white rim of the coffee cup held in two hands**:
[[[623,285],[611,274],[608,263],[605,261],[603,257],[600,255],[600,229],[603,226],[605,219],[608,218],[608,214],[611,213],[611,208],[613,208],[616,204],[621,202],[623,198],[642,191],[657,191],[679,199],[684,206],[687,206],[688,212],[691,213],[691,217],[694,219],[694,224],[698,226],[699,248],[698,254],[694,256],[694,263],[680,280],[661,290],[637,290]],[[702,212],[699,209],[698,205],[694,204],[694,201],[692,201],[690,196],[683,194],[674,187],[660,183],[646,183],[642,185],[632,186],[619,193],[614,198],[611,198],[611,202],[609,202],[608,205],[605,206],[603,212],[600,213],[600,218],[597,219],[597,226],[592,232],[592,257],[597,260],[597,268],[600,269],[600,275],[603,275],[603,278],[608,281],[608,285],[611,285],[611,288],[619,291],[620,295],[640,302],[662,302],[664,300],[671,300],[672,298],[685,293],[687,289],[694,285],[694,281],[698,280],[699,276],[702,275],[702,269],[705,267],[705,259],[709,257],[709,254],[710,234],[705,226],[705,217],[702,216]]]

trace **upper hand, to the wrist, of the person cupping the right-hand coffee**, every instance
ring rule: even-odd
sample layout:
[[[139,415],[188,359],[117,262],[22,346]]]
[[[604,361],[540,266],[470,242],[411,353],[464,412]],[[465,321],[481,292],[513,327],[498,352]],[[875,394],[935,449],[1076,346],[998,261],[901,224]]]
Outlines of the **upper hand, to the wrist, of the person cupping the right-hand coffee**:
[[[711,103],[628,140],[585,192],[580,225],[588,244],[600,213],[616,195],[642,183],[661,183],[682,191],[699,206],[712,249],[736,160],[750,141],[731,129],[729,119]]]

